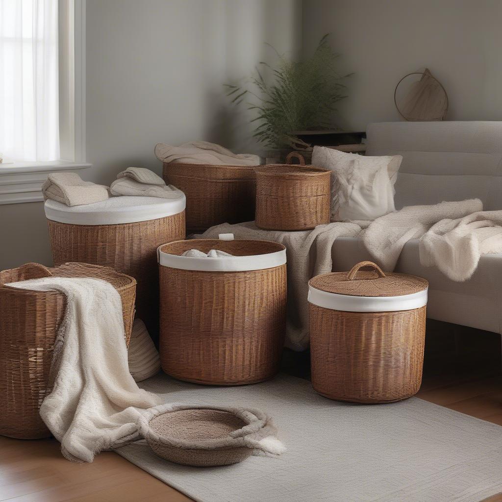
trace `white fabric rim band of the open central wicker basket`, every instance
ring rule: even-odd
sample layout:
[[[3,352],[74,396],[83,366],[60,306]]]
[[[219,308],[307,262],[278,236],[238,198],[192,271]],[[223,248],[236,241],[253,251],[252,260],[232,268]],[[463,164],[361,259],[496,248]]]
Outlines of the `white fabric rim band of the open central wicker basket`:
[[[195,249],[195,242],[194,246]],[[199,272],[245,272],[250,270],[272,269],[286,263],[286,249],[281,249],[275,253],[267,253],[265,255],[189,258],[186,256],[164,253],[159,247],[157,256],[159,264],[163,267]]]

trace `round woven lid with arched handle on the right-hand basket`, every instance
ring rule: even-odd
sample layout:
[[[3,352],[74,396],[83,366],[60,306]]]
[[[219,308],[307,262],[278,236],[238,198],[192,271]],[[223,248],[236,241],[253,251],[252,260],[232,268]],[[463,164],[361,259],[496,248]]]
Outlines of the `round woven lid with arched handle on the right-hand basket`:
[[[327,293],[366,297],[412,295],[426,290],[429,285],[426,279],[417,276],[384,274],[372,262],[360,262],[350,272],[332,272],[314,277],[309,284]]]

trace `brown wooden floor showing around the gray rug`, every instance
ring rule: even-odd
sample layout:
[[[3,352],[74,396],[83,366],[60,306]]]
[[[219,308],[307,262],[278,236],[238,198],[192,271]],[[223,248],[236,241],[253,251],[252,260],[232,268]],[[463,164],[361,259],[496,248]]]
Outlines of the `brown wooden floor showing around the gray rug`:
[[[502,425],[502,376],[498,367],[491,371],[486,365],[481,368],[442,366],[438,371],[426,366],[418,397]],[[92,464],[74,464],[61,456],[59,443],[54,440],[22,441],[0,436],[0,500],[186,502],[191,499],[115,453],[102,453]],[[502,494],[488,501],[502,502]]]

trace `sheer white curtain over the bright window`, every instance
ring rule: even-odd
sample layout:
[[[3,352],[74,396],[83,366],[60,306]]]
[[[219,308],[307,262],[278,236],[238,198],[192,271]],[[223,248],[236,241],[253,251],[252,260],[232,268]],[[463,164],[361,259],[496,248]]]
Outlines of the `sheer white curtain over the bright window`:
[[[59,159],[58,0],[0,0],[0,152]]]

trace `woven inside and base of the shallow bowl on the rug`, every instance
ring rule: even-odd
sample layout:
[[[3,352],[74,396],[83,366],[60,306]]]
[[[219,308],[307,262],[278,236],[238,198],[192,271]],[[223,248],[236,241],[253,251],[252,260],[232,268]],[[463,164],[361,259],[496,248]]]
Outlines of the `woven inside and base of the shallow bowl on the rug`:
[[[230,432],[247,424],[221,410],[179,410],[155,417],[149,422],[153,432],[174,440],[204,441],[228,437]],[[217,449],[187,449],[147,438],[157,455],[183,465],[208,467],[240,462],[252,454],[246,446]]]

